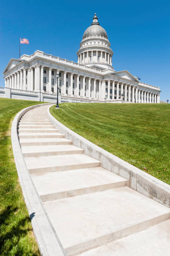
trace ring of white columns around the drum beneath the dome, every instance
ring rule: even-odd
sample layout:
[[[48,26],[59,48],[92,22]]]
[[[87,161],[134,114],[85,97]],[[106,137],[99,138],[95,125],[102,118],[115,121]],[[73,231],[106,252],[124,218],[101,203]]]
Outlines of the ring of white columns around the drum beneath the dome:
[[[95,53],[95,56],[94,56],[94,53]],[[79,64],[85,64],[85,63],[87,64],[87,63],[93,63],[93,62],[112,65],[112,54],[109,54],[107,51],[90,50],[90,51],[84,51],[78,56]]]

